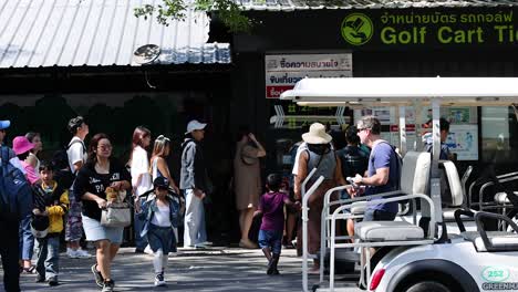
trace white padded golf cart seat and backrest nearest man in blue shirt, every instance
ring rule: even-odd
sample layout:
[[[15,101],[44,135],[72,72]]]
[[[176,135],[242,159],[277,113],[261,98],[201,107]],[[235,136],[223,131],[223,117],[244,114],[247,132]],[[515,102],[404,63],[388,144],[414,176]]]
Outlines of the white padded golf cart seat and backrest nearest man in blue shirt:
[[[429,168],[429,153],[406,153],[401,169],[402,194],[425,194],[428,188]],[[407,241],[425,238],[421,227],[405,221],[360,222],[354,226],[354,233],[361,241]]]

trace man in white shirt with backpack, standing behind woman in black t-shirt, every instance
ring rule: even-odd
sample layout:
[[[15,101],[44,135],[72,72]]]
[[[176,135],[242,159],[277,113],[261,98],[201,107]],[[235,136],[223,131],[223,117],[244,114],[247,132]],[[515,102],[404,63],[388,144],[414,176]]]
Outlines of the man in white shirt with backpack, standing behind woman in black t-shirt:
[[[89,135],[89,125],[82,116],[76,116],[69,121],[68,128],[73,135],[66,147],[70,170],[77,175],[79,170],[86,163],[87,153],[84,138]],[[72,188],[74,186],[72,185]],[[70,194],[72,194],[72,188]],[[81,201],[76,201],[74,196],[70,196],[70,209],[65,225],[66,254],[72,259],[87,259],[90,253],[81,249],[80,240],[83,237],[83,223],[81,218]]]

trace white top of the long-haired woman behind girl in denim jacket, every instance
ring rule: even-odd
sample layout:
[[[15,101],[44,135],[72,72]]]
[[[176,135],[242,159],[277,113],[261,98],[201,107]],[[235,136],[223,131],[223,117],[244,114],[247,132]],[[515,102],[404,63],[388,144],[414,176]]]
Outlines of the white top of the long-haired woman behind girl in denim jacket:
[[[141,146],[136,146],[135,149],[133,149],[131,169],[132,186],[135,188],[136,196],[141,196],[153,188],[147,153]],[[141,182],[137,185],[139,175],[142,175],[142,178]]]

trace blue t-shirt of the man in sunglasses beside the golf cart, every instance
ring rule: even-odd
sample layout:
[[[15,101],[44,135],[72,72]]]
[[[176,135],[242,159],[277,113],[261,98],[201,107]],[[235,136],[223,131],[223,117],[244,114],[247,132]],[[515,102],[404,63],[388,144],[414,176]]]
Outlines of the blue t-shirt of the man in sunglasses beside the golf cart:
[[[383,186],[366,186],[365,195],[376,195],[387,191],[393,191],[397,188],[397,157],[392,146],[386,142],[380,142],[374,146],[369,157],[367,175],[372,177],[376,174],[376,169],[388,168],[388,181]],[[376,200],[376,199],[373,199]],[[397,202],[370,204],[367,209],[383,210],[392,213],[397,213]]]

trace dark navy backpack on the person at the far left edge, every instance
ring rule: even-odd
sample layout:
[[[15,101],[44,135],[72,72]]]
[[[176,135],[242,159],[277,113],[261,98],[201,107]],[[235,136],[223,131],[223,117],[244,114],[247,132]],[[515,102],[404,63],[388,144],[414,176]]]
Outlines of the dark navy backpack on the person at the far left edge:
[[[14,213],[20,218],[32,212],[33,194],[25,175],[9,163],[9,148],[1,146],[0,213]]]

